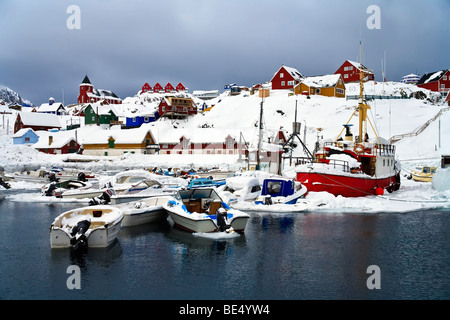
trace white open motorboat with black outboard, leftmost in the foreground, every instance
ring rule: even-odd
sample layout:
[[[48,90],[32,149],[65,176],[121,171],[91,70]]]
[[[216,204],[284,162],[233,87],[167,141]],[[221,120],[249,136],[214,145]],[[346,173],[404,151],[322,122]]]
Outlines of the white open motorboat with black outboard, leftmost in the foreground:
[[[107,247],[117,238],[123,217],[119,208],[109,205],[66,211],[50,226],[51,247]]]

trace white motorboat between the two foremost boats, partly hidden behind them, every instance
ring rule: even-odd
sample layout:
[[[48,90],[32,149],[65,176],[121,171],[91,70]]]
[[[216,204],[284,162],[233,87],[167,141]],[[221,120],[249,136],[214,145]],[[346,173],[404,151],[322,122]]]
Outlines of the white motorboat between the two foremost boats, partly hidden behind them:
[[[122,226],[137,226],[166,219],[167,211],[163,206],[170,199],[171,196],[150,197],[116,206],[124,214]]]

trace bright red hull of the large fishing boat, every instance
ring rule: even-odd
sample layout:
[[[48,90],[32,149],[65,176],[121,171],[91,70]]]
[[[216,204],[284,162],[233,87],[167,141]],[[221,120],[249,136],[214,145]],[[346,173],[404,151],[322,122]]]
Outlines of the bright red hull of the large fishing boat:
[[[338,175],[329,173],[297,172],[297,181],[304,185],[308,192],[329,192],[335,196],[364,197],[377,195],[380,189],[392,192],[400,187],[400,176],[373,178],[367,175]],[[378,189],[378,191],[377,191]]]

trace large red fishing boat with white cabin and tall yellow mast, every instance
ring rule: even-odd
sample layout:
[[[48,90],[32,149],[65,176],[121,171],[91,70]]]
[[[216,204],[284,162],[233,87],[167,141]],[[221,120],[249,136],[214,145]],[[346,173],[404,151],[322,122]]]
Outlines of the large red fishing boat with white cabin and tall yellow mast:
[[[370,106],[364,101],[364,78],[365,73],[361,71],[358,106],[336,140],[325,142],[313,158],[303,158],[295,167],[297,181],[308,192],[326,191],[335,196],[361,197],[400,188],[400,165],[395,159],[395,146],[376,134],[367,117]],[[359,135],[353,137],[349,123],[356,113]],[[368,123],[375,133],[372,140],[367,133]]]

